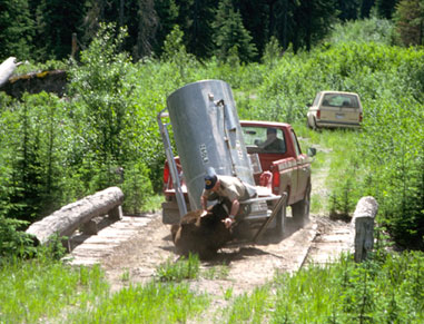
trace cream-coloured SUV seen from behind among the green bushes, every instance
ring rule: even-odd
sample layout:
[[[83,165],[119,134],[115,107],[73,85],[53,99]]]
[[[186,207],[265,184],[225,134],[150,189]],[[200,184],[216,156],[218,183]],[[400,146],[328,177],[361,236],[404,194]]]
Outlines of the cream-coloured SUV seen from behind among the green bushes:
[[[357,94],[319,91],[307,112],[308,127],[361,127],[363,109]]]

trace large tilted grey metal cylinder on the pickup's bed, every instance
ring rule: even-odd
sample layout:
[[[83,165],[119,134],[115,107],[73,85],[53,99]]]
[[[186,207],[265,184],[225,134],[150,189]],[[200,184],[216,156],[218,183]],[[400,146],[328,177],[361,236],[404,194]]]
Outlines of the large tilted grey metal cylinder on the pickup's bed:
[[[255,185],[236,104],[228,84],[204,80],[174,91],[167,100],[191,209],[200,208],[208,167]]]

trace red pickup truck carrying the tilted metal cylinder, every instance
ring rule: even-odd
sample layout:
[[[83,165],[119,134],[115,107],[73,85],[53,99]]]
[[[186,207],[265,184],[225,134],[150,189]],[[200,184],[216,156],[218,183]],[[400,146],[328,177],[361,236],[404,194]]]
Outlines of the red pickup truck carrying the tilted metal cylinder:
[[[315,149],[310,148],[308,155],[303,154],[295,130],[288,124],[240,120],[240,126],[258,197],[286,193],[286,205],[292,207],[294,220],[303,225],[309,216],[310,157],[315,155]],[[187,188],[178,157],[176,164],[189,210]],[[164,193],[166,202],[162,203],[162,222],[177,224],[180,215],[167,163],[164,169]],[[283,214],[285,215],[285,210]],[[276,226],[282,222],[284,219],[277,219]]]

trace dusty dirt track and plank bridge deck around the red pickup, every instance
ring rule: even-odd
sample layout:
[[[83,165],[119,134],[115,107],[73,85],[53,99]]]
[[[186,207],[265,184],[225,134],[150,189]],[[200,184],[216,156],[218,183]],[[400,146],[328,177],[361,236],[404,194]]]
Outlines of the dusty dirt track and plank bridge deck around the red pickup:
[[[325,178],[326,170],[313,175],[313,195],[326,195]],[[73,249],[73,263],[100,263],[112,291],[129,283],[150,281],[159,264],[178,259],[170,239],[170,228],[161,223],[160,213],[144,217],[126,216],[98,235],[79,239],[85,242]],[[225,279],[200,278],[193,285],[215,296],[223,296],[228,288],[234,294],[249,292],[272,279],[275,272],[294,272],[307,263],[328,262],[348,249],[349,242],[348,224],[333,222],[325,215],[310,215],[310,223],[304,228],[288,226],[284,239],[265,233],[256,245],[221,249],[215,259],[203,262],[201,267],[228,265]]]

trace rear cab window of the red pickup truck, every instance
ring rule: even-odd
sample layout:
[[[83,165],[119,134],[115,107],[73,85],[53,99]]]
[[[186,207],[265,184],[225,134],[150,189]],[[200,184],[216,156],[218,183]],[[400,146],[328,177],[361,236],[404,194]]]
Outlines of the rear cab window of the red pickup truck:
[[[243,126],[243,138],[248,153],[285,154],[286,140],[279,128]]]

